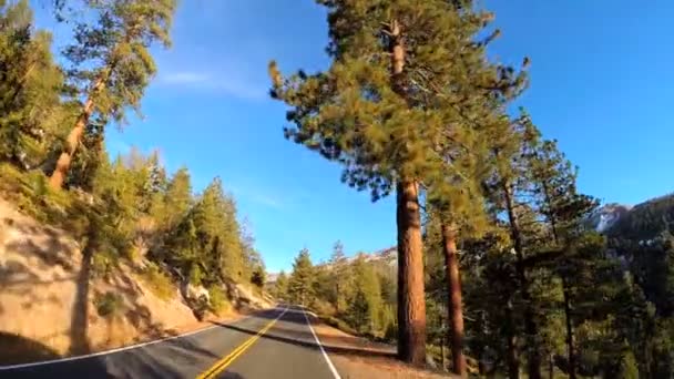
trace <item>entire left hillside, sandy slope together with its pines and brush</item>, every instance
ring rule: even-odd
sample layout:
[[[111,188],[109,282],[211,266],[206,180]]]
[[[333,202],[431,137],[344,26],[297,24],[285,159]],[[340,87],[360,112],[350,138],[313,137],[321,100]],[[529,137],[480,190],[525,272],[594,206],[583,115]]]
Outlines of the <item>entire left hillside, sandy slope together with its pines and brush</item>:
[[[268,306],[219,178],[195,194],[186,167],[105,148],[105,129],[140,112],[174,1],[84,0],[84,18],[73,4],[50,8],[74,27],[59,64],[28,1],[0,1],[0,332],[81,354]]]

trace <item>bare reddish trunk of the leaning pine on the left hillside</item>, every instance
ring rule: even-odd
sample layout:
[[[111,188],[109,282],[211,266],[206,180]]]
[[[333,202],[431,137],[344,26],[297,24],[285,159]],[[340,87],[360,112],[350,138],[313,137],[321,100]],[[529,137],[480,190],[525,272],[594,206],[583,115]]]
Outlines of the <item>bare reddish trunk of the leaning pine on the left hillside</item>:
[[[105,86],[105,81],[108,80],[110,70],[104,70],[99,79],[96,79],[93,88],[89,91],[89,95],[86,101],[84,102],[84,106],[82,107],[82,113],[78,117],[74,127],[68,134],[68,139],[65,140],[65,148],[61,152],[59,160],[57,161],[57,167],[54,172],[51,174],[49,178],[49,184],[54,190],[60,190],[63,187],[63,182],[65,181],[65,176],[68,175],[68,171],[70,170],[70,165],[72,163],[72,158],[80,146],[80,142],[82,141],[82,136],[84,135],[84,130],[86,124],[89,123],[89,117],[93,113],[93,98],[94,95],[101,91]]]

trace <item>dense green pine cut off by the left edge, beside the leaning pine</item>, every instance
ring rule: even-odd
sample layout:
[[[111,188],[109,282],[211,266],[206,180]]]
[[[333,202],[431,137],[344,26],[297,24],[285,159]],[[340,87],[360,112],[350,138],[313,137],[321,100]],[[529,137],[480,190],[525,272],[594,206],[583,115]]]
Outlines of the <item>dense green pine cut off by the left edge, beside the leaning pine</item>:
[[[67,113],[51,34],[32,24],[27,0],[0,1],[0,161],[23,170],[47,161]]]

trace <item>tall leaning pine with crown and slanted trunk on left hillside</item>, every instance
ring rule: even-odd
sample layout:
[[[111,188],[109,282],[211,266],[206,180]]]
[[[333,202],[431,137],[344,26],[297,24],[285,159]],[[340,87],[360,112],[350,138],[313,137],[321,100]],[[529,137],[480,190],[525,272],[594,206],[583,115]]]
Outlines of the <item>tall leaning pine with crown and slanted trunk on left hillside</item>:
[[[73,88],[86,99],[51,174],[60,188],[92,116],[124,121],[126,107],[140,110],[140,101],[156,68],[150,54],[154,42],[167,47],[175,0],[85,1],[96,22],[76,21],[76,43],[65,50]]]

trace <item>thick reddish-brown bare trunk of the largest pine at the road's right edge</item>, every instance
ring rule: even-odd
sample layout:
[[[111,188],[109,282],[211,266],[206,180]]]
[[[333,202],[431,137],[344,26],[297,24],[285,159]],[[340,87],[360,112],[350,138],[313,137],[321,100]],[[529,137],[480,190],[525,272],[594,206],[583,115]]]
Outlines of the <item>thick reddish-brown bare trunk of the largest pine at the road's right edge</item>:
[[[406,362],[426,362],[426,303],[419,186],[397,184],[398,355]]]

